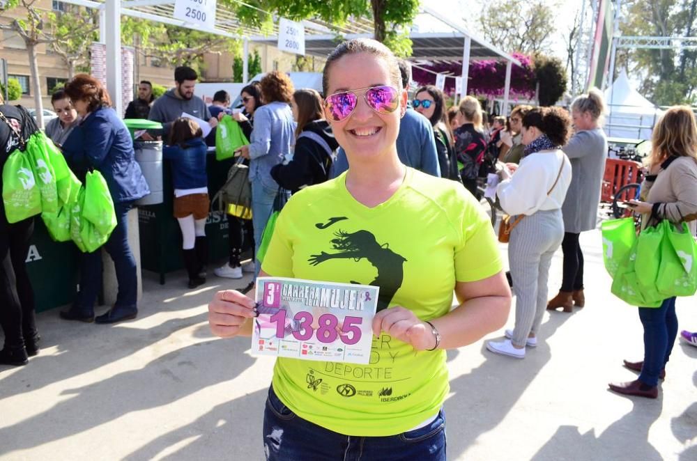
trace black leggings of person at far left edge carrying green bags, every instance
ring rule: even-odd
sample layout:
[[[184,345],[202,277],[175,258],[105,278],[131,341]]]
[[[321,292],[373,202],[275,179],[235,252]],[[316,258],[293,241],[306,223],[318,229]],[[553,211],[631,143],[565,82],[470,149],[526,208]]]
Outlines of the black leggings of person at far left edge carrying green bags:
[[[24,263],[34,219],[4,226],[0,227],[0,327],[5,344],[18,346],[36,334],[34,292]]]

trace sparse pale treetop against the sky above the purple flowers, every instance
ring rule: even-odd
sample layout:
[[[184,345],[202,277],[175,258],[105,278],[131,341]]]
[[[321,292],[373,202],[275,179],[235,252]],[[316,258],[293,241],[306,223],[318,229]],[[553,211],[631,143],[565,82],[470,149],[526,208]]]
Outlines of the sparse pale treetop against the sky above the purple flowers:
[[[552,8],[543,0],[491,2],[480,20],[484,38],[507,53],[547,51],[556,31]]]

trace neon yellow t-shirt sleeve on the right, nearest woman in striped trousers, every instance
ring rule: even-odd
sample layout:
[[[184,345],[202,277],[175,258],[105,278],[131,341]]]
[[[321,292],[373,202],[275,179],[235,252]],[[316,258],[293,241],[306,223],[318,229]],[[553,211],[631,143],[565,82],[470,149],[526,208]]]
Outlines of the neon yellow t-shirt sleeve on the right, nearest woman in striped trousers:
[[[463,191],[464,192],[464,189]],[[503,270],[498,241],[489,215],[471,195],[461,194],[461,239],[455,248],[455,279],[474,282]]]

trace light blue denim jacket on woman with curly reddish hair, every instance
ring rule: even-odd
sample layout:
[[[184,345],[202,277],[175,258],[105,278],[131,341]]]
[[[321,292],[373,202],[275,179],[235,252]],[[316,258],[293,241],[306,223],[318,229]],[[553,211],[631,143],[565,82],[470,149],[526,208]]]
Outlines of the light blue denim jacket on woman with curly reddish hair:
[[[286,102],[271,102],[254,111],[254,131],[250,143],[250,182],[259,181],[268,189],[277,189],[271,167],[291,153],[296,123]]]

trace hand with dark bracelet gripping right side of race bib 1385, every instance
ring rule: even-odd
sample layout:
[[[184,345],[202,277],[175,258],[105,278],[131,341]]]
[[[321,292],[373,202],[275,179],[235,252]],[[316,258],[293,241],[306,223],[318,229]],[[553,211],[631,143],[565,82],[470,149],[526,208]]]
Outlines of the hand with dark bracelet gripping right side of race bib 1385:
[[[418,319],[412,311],[402,306],[394,306],[376,313],[373,318],[373,334],[381,332],[411,344],[415,350],[427,350],[436,345],[436,337],[426,322]]]

